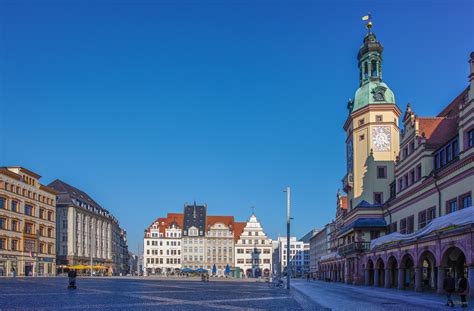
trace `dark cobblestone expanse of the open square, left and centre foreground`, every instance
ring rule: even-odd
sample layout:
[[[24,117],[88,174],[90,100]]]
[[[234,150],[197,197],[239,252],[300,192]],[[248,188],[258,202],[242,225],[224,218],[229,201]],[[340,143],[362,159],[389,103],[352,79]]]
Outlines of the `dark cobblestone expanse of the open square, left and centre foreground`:
[[[266,283],[147,278],[0,279],[0,310],[317,310],[307,297]]]

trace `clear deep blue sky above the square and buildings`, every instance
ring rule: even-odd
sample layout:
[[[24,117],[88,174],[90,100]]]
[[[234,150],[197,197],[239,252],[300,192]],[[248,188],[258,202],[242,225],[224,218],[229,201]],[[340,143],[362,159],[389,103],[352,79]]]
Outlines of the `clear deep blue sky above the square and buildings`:
[[[143,230],[185,202],[285,233],[335,214],[356,54],[435,115],[467,86],[472,1],[2,1],[0,165],[60,178]]]

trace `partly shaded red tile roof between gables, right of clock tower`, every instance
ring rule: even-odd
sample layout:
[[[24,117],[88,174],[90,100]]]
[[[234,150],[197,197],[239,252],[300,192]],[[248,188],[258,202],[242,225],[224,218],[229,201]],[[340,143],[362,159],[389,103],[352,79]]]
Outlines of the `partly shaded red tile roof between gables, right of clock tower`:
[[[458,120],[457,118],[423,118],[418,117],[418,130],[421,136],[426,138],[427,145],[438,147],[447,143],[456,136]]]

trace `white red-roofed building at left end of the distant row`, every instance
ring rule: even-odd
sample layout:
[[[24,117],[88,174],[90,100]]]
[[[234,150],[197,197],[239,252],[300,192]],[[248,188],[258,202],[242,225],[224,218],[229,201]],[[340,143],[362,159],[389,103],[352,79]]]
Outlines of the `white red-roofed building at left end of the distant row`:
[[[171,275],[181,269],[183,214],[158,218],[144,237],[144,275]]]

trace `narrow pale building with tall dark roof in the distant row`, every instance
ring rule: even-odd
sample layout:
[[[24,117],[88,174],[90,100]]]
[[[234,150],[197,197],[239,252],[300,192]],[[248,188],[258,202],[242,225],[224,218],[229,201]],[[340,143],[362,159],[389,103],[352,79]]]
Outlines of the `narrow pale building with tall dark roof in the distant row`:
[[[206,266],[206,205],[185,204],[183,223],[183,251],[181,262],[183,268],[199,269]]]

